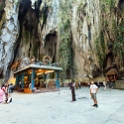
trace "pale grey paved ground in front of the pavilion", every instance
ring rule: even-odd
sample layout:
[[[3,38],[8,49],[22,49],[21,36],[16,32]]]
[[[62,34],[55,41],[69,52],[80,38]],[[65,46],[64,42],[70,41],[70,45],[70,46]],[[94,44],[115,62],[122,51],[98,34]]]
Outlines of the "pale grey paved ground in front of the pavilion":
[[[124,91],[98,92],[99,107],[92,107],[89,88],[76,90],[71,102],[69,88],[58,92],[14,92],[13,102],[0,104],[0,124],[124,124]]]

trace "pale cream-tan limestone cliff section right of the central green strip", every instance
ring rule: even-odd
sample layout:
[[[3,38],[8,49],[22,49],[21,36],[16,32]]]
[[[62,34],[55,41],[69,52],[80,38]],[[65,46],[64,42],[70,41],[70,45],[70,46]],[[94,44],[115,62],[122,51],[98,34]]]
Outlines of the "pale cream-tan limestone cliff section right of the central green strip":
[[[100,31],[99,1],[81,1],[74,3],[72,12],[72,35],[75,48],[74,63],[77,77],[98,76],[95,40]]]

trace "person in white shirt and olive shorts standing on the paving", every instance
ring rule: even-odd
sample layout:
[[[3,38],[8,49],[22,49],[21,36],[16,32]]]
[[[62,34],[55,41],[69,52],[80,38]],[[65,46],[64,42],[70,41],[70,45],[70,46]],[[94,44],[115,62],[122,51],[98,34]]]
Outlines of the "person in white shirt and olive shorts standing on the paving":
[[[90,85],[90,95],[91,95],[91,98],[93,99],[93,102],[94,102],[94,105],[93,106],[94,107],[98,107],[97,99],[96,99],[97,92],[98,92],[98,87],[92,81],[91,82],[91,85]]]

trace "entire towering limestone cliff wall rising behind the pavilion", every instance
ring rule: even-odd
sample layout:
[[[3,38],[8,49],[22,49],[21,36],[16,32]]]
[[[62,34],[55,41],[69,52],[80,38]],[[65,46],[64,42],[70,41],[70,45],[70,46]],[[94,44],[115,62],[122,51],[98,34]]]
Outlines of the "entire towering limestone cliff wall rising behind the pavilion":
[[[62,78],[100,77],[113,63],[119,69],[123,66],[123,43],[118,40],[123,41],[123,0],[2,3],[6,6],[0,10],[1,76],[8,78],[19,58],[42,61],[45,55],[63,67]]]

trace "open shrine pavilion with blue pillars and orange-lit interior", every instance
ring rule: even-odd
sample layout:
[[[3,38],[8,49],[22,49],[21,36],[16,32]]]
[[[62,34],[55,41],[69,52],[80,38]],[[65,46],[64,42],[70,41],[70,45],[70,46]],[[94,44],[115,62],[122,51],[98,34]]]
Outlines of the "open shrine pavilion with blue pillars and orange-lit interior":
[[[52,65],[37,65],[30,64],[20,70],[14,72],[14,76],[16,77],[15,87],[20,88],[23,91],[25,88],[30,88],[33,90],[35,85],[38,84],[38,77],[42,76],[43,80],[47,78],[47,74],[55,73],[56,88],[59,87],[59,72],[63,69],[58,66]]]

